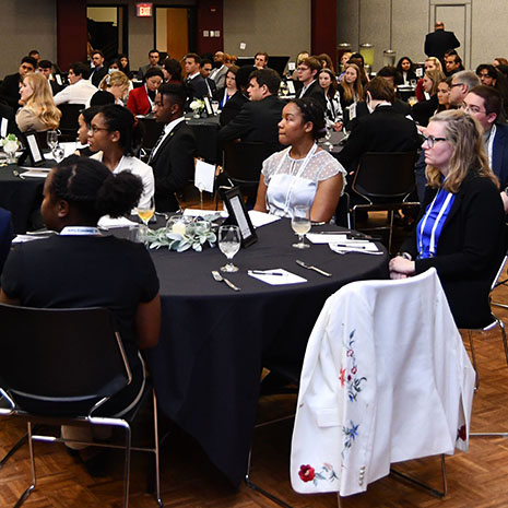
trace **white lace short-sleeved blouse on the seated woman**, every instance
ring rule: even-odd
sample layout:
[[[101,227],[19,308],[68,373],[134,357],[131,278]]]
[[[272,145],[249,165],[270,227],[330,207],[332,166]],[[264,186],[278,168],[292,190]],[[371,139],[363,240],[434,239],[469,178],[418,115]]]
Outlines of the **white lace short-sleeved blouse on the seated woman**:
[[[312,206],[320,181],[339,173],[343,178],[346,175],[342,165],[323,150],[299,160],[291,157],[290,150],[287,147],[272,154],[263,162],[261,170],[268,187],[267,209],[281,217],[290,217],[292,209],[297,204]]]

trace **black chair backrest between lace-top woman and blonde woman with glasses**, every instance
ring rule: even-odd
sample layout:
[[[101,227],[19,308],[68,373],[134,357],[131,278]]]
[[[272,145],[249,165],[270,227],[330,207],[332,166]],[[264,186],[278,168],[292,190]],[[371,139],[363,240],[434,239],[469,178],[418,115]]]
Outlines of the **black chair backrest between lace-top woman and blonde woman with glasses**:
[[[359,162],[353,190],[370,201],[405,200],[415,188],[416,152],[367,152]]]

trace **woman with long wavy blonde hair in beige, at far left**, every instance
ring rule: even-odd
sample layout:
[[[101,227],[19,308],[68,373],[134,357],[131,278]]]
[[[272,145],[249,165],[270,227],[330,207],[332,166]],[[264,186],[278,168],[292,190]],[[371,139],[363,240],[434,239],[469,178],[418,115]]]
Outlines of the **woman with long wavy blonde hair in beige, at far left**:
[[[16,114],[16,123],[21,132],[58,129],[61,113],[55,106],[51,88],[44,74],[28,73],[20,85],[23,107]]]

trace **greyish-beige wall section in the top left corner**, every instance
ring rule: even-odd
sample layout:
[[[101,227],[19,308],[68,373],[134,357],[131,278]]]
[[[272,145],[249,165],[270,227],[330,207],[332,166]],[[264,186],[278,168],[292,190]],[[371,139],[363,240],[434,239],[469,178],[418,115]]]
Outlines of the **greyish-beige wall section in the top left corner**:
[[[56,0],[1,0],[0,5],[0,79],[17,72],[31,49],[44,59],[57,59]]]

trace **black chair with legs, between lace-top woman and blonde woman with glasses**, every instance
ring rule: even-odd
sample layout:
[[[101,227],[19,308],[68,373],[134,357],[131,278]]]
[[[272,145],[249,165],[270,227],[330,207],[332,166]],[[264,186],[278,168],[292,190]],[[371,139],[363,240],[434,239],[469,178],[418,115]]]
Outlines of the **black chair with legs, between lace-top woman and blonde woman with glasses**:
[[[388,211],[389,225],[369,228],[389,229],[388,250],[391,249],[393,214],[397,210],[418,206],[417,201],[409,201],[415,189],[414,165],[416,152],[368,152],[359,162],[352,189],[366,203],[355,203],[351,208],[352,227],[356,226],[356,211]]]

